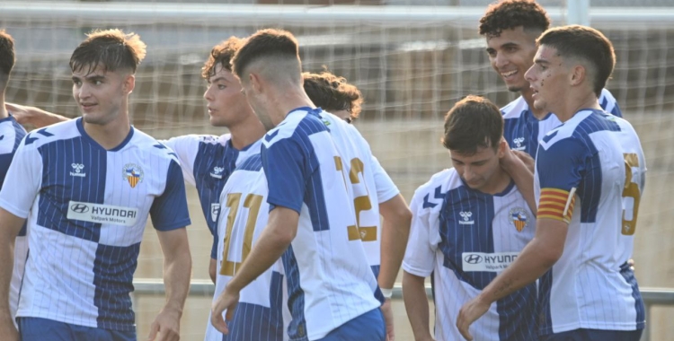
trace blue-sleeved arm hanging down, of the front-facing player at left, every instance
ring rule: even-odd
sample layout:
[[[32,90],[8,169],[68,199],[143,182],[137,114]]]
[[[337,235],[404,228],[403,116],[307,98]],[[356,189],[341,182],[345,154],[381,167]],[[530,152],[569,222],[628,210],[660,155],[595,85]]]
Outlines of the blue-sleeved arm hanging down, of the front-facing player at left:
[[[191,222],[182,170],[173,159],[164,192],[152,203],[150,216],[164,254],[166,303],[150,326],[148,339],[154,340],[158,334],[159,340],[178,340],[182,309],[190,289],[192,263],[185,226]]]

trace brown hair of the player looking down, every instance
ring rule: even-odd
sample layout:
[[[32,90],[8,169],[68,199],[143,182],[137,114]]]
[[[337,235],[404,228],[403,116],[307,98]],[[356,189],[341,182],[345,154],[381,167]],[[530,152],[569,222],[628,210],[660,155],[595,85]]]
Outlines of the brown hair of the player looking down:
[[[499,147],[503,136],[503,116],[492,101],[469,95],[449,109],[445,116],[442,145],[451,151],[473,155],[477,148]]]

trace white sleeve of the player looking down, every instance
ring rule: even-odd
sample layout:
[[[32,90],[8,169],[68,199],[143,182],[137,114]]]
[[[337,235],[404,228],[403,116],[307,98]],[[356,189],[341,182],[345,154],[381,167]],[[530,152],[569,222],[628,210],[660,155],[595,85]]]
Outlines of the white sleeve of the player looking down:
[[[431,248],[430,236],[433,225],[439,223],[431,222],[430,210],[423,207],[425,194],[425,192],[417,190],[412,197],[410,205],[412,227],[410,228],[410,239],[407,241],[407,249],[405,249],[403,260],[404,270],[420,277],[427,277],[433,272],[435,251]]]

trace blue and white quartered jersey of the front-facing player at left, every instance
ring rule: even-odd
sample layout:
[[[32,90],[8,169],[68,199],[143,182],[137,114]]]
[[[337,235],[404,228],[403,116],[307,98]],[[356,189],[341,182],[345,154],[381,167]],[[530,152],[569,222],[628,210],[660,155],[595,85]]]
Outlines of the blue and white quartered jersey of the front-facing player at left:
[[[173,152],[131,127],[105,150],[82,118],[25,136],[0,206],[28,219],[19,317],[135,330],[129,293],[148,214],[155,229],[190,224]]]

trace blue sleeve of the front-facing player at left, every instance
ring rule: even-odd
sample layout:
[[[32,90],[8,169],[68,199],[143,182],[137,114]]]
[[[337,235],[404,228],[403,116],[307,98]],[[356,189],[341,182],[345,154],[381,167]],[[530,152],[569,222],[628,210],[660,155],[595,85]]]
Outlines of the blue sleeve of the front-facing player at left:
[[[170,231],[191,224],[185,197],[185,182],[178,162],[171,161],[166,175],[166,188],[150,207],[152,224],[156,230]]]

